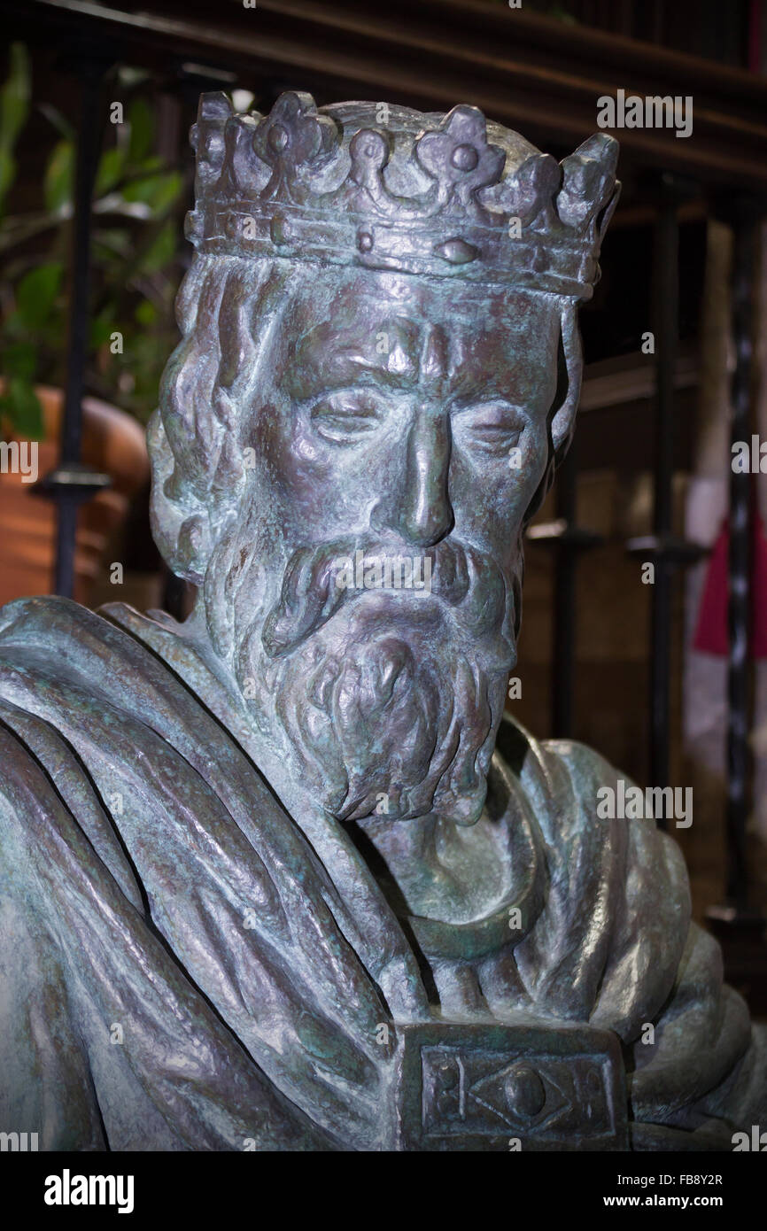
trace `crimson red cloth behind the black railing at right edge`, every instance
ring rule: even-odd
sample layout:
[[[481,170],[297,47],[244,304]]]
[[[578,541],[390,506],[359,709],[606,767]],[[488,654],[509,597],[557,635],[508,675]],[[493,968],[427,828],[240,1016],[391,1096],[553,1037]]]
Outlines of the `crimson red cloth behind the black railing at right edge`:
[[[767,537],[758,513],[752,518],[751,555],[751,657],[767,659]],[[721,529],[708,561],[693,649],[726,656],[728,636],[728,553],[729,523]]]

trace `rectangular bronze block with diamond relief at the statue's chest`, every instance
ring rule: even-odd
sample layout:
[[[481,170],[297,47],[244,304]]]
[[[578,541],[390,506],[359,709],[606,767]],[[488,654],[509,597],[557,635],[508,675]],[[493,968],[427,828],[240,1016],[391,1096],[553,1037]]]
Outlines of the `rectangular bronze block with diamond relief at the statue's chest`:
[[[618,1037],[585,1025],[396,1027],[399,1150],[628,1150]]]

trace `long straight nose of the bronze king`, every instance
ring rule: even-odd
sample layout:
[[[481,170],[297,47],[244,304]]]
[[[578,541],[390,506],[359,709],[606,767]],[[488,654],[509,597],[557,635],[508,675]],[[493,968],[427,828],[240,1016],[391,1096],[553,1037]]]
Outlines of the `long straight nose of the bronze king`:
[[[448,534],[454,516],[448,496],[451,432],[447,415],[416,412],[405,443],[401,480],[379,506],[382,521],[415,547],[432,547]],[[383,515],[383,518],[382,518]]]

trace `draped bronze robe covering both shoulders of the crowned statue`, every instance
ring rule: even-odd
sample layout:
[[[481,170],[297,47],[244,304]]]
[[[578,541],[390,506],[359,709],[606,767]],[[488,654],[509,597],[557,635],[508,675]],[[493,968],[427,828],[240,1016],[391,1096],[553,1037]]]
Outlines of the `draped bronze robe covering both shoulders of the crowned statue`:
[[[288,814],[246,726],[167,617],[0,611],[0,1130],[392,1149],[398,1024],[430,1016],[614,1032],[635,1149],[765,1123],[765,1032],[691,924],[676,844],[596,816],[618,779],[596,753],[504,721],[513,883],[452,924],[398,920],[342,826]]]

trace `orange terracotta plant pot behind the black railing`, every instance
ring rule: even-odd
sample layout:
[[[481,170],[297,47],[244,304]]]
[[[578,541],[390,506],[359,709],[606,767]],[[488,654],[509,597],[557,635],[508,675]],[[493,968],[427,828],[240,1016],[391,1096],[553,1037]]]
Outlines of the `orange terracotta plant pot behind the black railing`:
[[[42,479],[59,458],[64,394],[46,385],[36,391],[46,425],[44,438],[38,442],[37,469]],[[20,443],[23,439],[11,438]],[[78,513],[75,598],[87,606],[107,543],[124,522],[131,496],[149,478],[144,428],[116,406],[84,398],[82,460],[112,476],[112,487],[97,492]],[[52,592],[55,505],[32,495],[32,487],[21,474],[0,473],[0,603]]]

